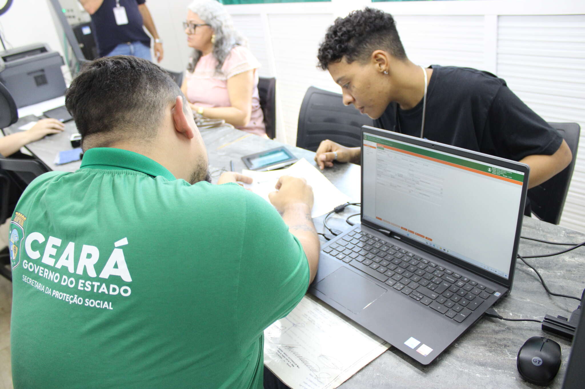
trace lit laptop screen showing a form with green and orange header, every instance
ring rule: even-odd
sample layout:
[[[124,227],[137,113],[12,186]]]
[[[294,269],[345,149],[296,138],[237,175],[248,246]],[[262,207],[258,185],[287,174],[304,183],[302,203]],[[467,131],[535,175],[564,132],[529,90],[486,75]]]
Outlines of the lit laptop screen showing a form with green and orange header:
[[[366,129],[362,158],[363,219],[510,278],[522,171]]]

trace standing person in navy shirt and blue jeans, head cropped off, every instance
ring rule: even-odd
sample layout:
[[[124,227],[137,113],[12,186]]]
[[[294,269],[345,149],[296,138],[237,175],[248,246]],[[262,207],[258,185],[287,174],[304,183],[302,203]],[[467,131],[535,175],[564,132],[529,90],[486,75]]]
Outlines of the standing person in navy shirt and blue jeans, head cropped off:
[[[152,61],[150,37],[154,38],[154,57],[163,59],[163,41],[156,31],[146,0],[79,0],[91,16],[100,57],[133,55]],[[93,59],[93,58],[88,58]]]

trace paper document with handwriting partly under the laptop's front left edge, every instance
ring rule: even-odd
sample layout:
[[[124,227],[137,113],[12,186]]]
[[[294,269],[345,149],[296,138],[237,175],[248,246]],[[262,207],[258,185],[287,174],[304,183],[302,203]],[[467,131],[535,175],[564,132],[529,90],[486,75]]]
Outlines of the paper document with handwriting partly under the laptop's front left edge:
[[[264,365],[292,389],[333,389],[390,344],[305,295],[264,330]]]

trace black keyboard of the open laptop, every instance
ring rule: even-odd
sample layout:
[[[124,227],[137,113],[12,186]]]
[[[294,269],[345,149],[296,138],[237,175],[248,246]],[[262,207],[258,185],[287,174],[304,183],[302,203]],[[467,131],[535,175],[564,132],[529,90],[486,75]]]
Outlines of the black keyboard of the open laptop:
[[[323,251],[457,323],[495,292],[404,248],[391,246],[360,226]]]

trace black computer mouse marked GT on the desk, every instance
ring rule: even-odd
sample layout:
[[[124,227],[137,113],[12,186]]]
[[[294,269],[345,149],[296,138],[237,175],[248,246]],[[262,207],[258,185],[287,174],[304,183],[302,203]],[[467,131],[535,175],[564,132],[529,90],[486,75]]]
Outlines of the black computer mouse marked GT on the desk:
[[[560,346],[549,338],[529,338],[518,351],[518,373],[529,383],[547,386],[560,367]]]

